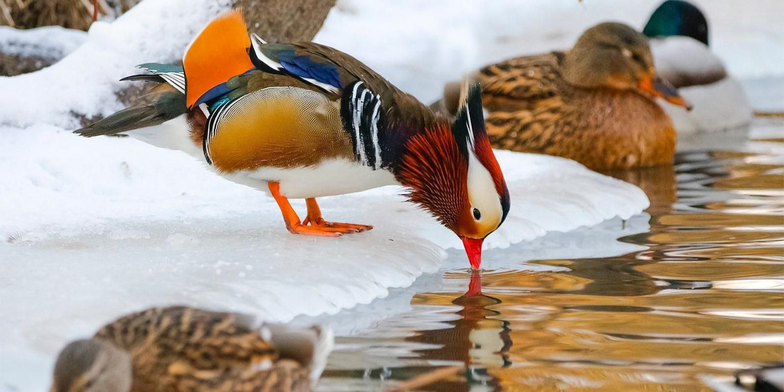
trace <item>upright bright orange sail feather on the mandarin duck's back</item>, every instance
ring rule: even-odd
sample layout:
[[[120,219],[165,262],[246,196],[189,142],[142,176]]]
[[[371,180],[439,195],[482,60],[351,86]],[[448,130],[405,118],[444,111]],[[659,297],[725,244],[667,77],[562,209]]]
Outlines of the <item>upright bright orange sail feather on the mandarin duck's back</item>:
[[[240,9],[227,11],[207,24],[183,56],[187,107],[196,106],[213,87],[252,69],[250,46]]]

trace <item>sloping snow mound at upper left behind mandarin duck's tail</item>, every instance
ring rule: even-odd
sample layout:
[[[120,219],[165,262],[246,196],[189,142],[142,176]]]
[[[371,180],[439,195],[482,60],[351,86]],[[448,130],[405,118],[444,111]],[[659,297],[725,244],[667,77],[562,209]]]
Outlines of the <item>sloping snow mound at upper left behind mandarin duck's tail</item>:
[[[181,59],[194,34],[229,6],[229,0],[141,2],[111,24],[94,23],[84,45],[57,64],[0,78],[0,124],[74,126],[73,114],[92,117],[121,109],[114,95],[120,78],[134,73],[136,64]],[[45,32],[52,40],[63,36]]]

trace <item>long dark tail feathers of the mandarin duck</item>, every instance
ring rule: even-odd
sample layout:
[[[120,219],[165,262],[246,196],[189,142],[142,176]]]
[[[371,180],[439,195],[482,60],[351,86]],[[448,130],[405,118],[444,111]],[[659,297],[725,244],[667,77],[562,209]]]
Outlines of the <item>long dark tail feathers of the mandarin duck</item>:
[[[144,98],[143,103],[111,114],[85,128],[75,130],[74,133],[85,137],[114,135],[160,125],[186,112],[185,96],[168,85],[153,89]]]

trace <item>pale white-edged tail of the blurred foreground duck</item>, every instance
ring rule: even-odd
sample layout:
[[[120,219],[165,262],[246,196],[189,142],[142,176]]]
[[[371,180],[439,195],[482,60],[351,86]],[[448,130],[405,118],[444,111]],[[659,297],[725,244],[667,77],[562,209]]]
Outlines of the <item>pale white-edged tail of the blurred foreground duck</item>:
[[[327,365],[335,343],[332,329],[323,326],[293,328],[283,324],[265,324],[262,333],[278,350],[281,358],[293,359],[310,369],[310,383],[315,385]]]

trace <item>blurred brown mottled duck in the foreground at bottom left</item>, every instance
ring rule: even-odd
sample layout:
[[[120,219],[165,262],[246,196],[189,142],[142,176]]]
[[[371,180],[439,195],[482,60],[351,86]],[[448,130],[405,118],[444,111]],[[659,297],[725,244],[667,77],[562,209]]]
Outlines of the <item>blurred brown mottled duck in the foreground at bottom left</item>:
[[[51,392],[306,392],[332,332],[188,307],[130,314],[57,358]]]

